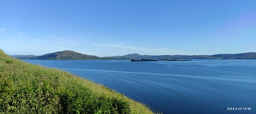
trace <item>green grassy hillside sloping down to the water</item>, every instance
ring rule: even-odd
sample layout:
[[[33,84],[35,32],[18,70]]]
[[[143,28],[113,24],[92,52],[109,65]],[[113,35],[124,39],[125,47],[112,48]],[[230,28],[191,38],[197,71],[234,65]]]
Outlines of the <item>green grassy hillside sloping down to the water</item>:
[[[109,88],[0,50],[0,113],[152,113]]]

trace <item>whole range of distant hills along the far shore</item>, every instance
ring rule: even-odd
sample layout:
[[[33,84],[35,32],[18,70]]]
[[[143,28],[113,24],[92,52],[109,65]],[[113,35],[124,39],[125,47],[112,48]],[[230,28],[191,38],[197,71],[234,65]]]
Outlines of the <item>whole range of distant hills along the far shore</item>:
[[[151,55],[140,55],[140,54],[127,54],[124,56],[111,56],[111,57],[98,57],[90,56],[87,54],[81,54],[78,52],[65,50],[61,52],[53,52],[50,54],[44,54],[42,56],[34,55],[14,55],[14,58],[19,58],[23,60],[116,60],[116,59],[151,59],[151,60],[160,60],[163,58],[168,59],[256,59],[256,52],[248,52],[241,54],[214,54],[214,55],[160,55],[160,56],[151,56]]]

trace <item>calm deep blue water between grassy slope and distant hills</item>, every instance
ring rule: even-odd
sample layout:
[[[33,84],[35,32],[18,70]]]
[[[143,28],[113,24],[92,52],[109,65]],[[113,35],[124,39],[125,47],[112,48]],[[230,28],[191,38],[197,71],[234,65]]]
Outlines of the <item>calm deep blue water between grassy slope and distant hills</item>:
[[[25,61],[87,78],[162,113],[256,113],[256,60]]]

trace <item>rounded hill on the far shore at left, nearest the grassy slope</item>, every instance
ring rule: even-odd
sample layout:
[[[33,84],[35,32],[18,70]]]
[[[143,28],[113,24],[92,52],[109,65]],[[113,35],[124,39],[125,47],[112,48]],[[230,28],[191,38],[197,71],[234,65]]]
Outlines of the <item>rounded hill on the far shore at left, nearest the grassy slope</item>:
[[[14,56],[15,57],[15,56]],[[16,57],[20,58],[20,57]],[[54,52],[50,54],[44,54],[42,56],[31,56],[29,58],[20,59],[30,59],[30,60],[94,60],[100,59],[98,56],[89,56],[87,54],[81,54],[78,52],[65,50],[61,52]]]

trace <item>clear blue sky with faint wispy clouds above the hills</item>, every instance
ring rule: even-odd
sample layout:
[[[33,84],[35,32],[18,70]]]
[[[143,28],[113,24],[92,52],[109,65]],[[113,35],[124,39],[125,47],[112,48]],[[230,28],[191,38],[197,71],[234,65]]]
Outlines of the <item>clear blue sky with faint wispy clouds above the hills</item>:
[[[0,0],[0,49],[101,57],[256,52],[256,1]]]

